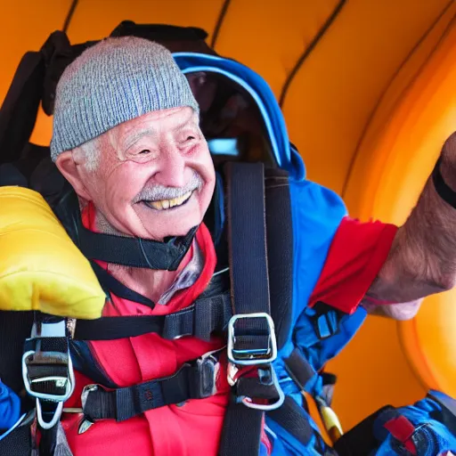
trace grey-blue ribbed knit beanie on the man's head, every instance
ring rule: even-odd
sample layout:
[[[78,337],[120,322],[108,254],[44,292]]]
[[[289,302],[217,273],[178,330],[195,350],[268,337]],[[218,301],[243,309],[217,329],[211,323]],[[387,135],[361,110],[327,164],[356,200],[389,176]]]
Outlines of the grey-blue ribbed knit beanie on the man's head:
[[[57,159],[126,120],[190,106],[191,88],[171,53],[137,37],[107,38],[63,72],[55,94],[51,157]]]

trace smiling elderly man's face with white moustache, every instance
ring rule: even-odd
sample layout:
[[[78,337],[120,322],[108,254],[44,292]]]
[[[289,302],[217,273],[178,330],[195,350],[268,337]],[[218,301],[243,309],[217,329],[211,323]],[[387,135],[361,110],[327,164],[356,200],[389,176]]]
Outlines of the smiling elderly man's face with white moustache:
[[[57,166],[116,231],[163,240],[201,223],[216,182],[198,115],[189,107],[152,111],[96,141],[97,163],[69,151]]]

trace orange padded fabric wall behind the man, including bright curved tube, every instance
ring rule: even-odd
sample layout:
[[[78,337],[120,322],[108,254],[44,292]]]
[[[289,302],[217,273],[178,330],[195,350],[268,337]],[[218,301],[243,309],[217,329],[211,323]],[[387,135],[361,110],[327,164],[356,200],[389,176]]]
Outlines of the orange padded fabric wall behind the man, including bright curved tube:
[[[456,130],[454,0],[4,1],[0,100],[20,57],[63,27],[71,4],[72,44],[105,37],[127,19],[205,28],[218,53],[265,77],[308,177],[342,194],[363,220],[402,223],[441,143]],[[40,112],[32,142],[49,144],[51,127]],[[412,322],[368,318],[330,362],[338,375],[333,407],[344,428],[386,403],[412,403],[428,387],[454,395],[453,296],[427,299]]]

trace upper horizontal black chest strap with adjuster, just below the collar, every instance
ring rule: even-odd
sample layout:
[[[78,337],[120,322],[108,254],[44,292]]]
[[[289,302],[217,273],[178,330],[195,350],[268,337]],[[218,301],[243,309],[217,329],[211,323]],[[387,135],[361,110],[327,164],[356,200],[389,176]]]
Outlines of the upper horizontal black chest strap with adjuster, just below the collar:
[[[211,334],[226,330],[231,317],[230,295],[224,293],[214,297],[200,297],[190,307],[175,314],[77,320],[73,339],[112,340],[155,332],[170,340],[183,336],[209,340]]]

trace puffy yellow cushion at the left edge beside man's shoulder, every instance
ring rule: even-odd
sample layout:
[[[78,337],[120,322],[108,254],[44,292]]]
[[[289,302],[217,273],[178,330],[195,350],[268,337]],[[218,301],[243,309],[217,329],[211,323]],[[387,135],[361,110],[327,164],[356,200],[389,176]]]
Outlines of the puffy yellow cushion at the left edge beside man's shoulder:
[[[0,310],[99,318],[105,294],[45,199],[0,187]]]

